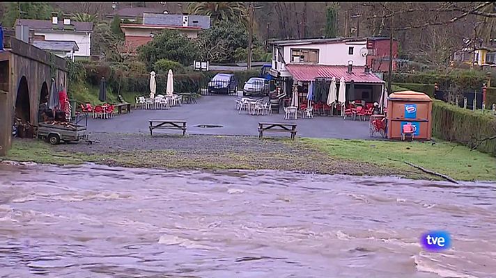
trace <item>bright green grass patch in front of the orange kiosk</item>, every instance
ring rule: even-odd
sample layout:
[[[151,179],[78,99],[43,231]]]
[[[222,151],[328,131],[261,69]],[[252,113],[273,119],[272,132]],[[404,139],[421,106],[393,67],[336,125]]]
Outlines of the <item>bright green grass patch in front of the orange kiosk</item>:
[[[302,141],[327,153],[331,158],[373,163],[398,170],[412,169],[408,161],[428,170],[465,181],[496,180],[496,158],[463,145],[438,140],[399,142],[378,140],[339,140],[303,138]]]

